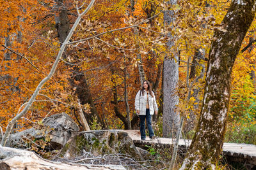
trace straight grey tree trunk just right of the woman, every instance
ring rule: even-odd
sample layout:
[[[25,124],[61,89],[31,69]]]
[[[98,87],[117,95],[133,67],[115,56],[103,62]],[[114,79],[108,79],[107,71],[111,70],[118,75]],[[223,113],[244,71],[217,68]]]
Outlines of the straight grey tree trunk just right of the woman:
[[[172,1],[172,4],[177,1]],[[173,11],[164,12],[164,22],[170,24],[174,20]],[[173,41],[167,43],[168,47],[173,46]],[[178,53],[178,52],[177,52]],[[179,127],[179,113],[175,111],[176,105],[179,104],[176,88],[179,81],[179,57],[177,53],[173,53],[174,58],[170,56],[164,57],[163,64],[163,137],[170,138],[172,134],[176,134]]]

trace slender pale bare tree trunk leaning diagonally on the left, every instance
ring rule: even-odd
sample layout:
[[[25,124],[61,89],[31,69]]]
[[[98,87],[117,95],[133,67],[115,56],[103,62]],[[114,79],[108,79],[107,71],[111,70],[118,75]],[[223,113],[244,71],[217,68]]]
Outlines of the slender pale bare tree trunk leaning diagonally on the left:
[[[36,90],[33,92],[33,95],[30,97],[28,103],[26,103],[25,107],[23,108],[22,111],[20,111],[20,113],[17,113],[16,117],[14,117],[9,124],[6,127],[6,131],[4,133],[3,139],[1,141],[1,145],[4,146],[6,144],[6,140],[8,139],[8,136],[10,136],[10,132],[12,131],[13,125],[15,125],[15,123],[17,122],[17,120],[19,120],[23,115],[25,115],[27,113],[27,111],[29,110],[30,106],[33,104],[33,102],[35,101],[36,96],[38,95],[40,89],[43,87],[43,85],[49,80],[51,79],[51,77],[53,76],[54,72],[56,71],[56,68],[58,66],[58,63],[61,60],[61,57],[63,55],[63,52],[66,48],[66,46],[68,45],[68,42],[72,36],[72,34],[74,33],[77,25],[79,24],[81,18],[88,12],[88,10],[90,10],[90,8],[92,8],[93,3],[95,2],[95,0],[92,0],[90,2],[90,4],[88,5],[88,7],[82,12],[79,12],[79,9],[81,9],[84,4],[81,7],[77,7],[77,19],[76,22],[74,23],[74,25],[72,26],[70,32],[68,33],[67,38],[65,39],[65,41],[63,42],[63,44],[61,45],[60,51],[56,57],[56,60],[54,62],[54,64],[52,65],[51,71],[50,73],[42,80],[40,81],[40,83],[38,84],[38,86],[36,87]]]

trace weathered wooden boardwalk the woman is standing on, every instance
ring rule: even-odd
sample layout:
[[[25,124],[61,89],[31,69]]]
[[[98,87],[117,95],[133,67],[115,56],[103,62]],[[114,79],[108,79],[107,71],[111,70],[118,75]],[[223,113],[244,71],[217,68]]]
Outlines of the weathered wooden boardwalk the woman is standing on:
[[[170,138],[156,138],[151,141],[148,137],[145,141],[140,139],[139,130],[125,130],[131,136],[134,144],[151,145],[157,144],[162,148],[167,148],[175,143],[175,140]],[[179,146],[181,148],[188,148],[191,140],[180,139]],[[223,156],[227,159],[235,162],[243,162],[248,165],[248,169],[256,169],[256,145],[249,145],[243,143],[224,143],[223,144]]]

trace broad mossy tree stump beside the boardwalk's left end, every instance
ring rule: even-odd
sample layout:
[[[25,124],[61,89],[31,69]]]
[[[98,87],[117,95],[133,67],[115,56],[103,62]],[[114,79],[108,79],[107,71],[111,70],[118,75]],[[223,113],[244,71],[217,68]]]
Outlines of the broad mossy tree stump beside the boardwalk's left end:
[[[100,130],[78,132],[61,150],[65,159],[74,159],[85,152],[95,157],[109,153],[130,155],[133,159],[144,160],[131,137],[122,130]]]

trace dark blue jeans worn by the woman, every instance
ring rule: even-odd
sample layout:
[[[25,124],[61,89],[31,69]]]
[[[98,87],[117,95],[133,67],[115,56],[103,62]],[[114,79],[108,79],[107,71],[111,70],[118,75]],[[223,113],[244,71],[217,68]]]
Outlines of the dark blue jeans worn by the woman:
[[[149,138],[152,138],[154,136],[154,131],[151,125],[151,115],[149,113],[149,109],[147,109],[146,115],[140,115],[140,138],[141,139],[146,139],[145,118],[147,120]]]

